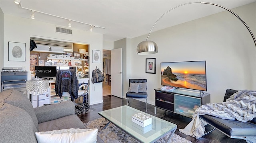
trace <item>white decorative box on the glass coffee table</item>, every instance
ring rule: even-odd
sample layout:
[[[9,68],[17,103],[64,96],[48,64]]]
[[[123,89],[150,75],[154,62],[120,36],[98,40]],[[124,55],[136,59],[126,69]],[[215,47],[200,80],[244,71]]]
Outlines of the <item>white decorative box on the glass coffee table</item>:
[[[132,121],[142,127],[146,127],[147,125],[152,124],[151,116],[148,116],[143,113],[138,113],[138,114],[132,115]]]

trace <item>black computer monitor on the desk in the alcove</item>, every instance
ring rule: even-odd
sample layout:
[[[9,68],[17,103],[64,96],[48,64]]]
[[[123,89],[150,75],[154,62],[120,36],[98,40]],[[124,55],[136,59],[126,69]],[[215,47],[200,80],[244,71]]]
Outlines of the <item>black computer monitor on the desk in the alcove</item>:
[[[56,77],[56,66],[35,66],[35,74],[38,78]]]

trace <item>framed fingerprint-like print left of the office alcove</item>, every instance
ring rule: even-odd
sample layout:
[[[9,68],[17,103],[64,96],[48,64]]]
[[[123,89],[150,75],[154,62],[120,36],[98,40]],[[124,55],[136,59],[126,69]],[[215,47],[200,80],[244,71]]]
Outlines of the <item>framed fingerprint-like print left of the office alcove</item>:
[[[26,61],[26,43],[8,42],[8,61]]]

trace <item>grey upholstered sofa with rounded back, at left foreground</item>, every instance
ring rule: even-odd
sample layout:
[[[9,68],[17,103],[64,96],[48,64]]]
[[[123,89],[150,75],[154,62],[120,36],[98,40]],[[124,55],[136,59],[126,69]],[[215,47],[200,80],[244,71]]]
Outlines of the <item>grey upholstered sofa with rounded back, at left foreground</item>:
[[[0,143],[36,143],[35,132],[69,128],[86,128],[75,115],[73,102],[33,108],[22,92],[0,92]]]

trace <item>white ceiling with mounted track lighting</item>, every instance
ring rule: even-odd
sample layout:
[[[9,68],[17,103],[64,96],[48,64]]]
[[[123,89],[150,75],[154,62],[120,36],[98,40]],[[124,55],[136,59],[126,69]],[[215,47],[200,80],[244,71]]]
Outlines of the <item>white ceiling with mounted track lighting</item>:
[[[134,38],[148,34],[150,29],[168,10],[180,4],[195,0],[20,0],[23,8],[14,0],[0,0],[0,8],[4,14],[30,18],[31,11],[40,11],[70,20],[76,20],[102,28],[94,28],[93,32],[103,34],[104,41]],[[228,9],[236,8],[256,0],[208,0]],[[157,31],[195,20],[204,16],[224,11],[224,9],[208,4],[187,4],[172,10],[155,25],[152,31]],[[231,13],[230,13],[231,14]],[[239,14],[238,14],[239,16]],[[59,25],[66,28],[90,31],[90,25],[35,12],[35,20]],[[145,39],[146,40],[146,39]]]

